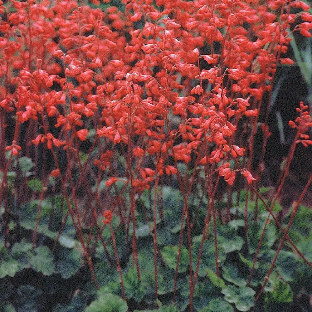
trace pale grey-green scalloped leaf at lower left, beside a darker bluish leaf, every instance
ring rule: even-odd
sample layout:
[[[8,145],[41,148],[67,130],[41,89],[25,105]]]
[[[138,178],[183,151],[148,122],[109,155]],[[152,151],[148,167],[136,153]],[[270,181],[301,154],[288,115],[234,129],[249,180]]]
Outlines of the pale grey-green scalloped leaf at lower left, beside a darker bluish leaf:
[[[43,275],[52,275],[55,272],[54,256],[48,247],[40,246],[29,253],[29,262],[33,270],[42,272]]]

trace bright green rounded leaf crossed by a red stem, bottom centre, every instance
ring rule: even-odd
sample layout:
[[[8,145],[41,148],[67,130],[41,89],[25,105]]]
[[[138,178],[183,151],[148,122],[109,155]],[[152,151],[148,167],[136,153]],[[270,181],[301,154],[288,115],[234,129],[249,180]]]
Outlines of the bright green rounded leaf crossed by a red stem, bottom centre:
[[[178,246],[165,246],[161,252],[163,260],[169,268],[175,269],[178,259]],[[188,250],[181,246],[178,272],[183,273],[187,270],[189,263]]]

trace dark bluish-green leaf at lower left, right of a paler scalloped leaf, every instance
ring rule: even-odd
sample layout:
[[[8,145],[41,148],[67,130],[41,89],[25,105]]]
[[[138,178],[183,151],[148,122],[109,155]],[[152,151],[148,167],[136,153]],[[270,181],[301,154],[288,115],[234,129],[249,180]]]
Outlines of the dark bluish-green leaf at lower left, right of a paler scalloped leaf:
[[[81,251],[77,249],[67,249],[60,247],[55,252],[56,271],[64,279],[70,278],[76,274],[81,266]]]

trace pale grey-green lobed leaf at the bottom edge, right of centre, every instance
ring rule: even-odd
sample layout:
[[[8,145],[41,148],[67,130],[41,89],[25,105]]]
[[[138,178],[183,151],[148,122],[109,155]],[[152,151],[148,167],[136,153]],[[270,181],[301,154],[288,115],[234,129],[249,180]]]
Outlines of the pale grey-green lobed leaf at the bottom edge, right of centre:
[[[221,290],[224,294],[224,299],[228,303],[234,303],[239,311],[248,311],[255,305],[255,291],[249,287],[243,286],[239,289],[235,286],[227,286]]]

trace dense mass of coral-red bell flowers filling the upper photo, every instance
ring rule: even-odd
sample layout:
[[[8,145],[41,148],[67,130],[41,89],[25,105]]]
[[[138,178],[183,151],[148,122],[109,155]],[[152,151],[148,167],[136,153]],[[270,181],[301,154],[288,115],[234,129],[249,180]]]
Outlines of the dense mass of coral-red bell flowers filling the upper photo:
[[[310,7],[280,0],[156,4],[125,1],[122,13],[70,0],[1,2],[3,114],[15,112],[16,127],[32,120],[28,129],[39,131],[32,142],[48,149],[79,149],[95,129],[101,152],[93,162],[102,171],[114,145],[128,146],[124,157],[136,167],[124,175],[138,189],[155,174],[176,174],[172,158],[188,165],[198,155],[215,166],[243,156],[233,144],[237,126],[258,118],[278,62],[291,63],[281,57],[291,23],[300,17],[292,32],[311,36]],[[6,149],[17,155],[13,145]],[[151,157],[152,167],[141,168]]]

